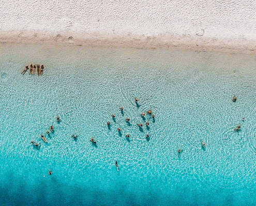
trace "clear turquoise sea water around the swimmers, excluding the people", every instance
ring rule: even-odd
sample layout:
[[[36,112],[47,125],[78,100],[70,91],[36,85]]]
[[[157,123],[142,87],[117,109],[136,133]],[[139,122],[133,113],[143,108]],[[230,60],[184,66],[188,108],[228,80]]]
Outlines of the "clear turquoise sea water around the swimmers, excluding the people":
[[[31,62],[42,76],[21,75]],[[240,54],[1,44],[0,204],[256,204],[255,65]],[[140,116],[149,109],[155,121]]]

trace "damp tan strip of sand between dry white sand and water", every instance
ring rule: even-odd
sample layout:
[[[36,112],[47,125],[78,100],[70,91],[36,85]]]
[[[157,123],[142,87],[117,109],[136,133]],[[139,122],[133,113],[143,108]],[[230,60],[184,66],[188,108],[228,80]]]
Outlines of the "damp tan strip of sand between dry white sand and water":
[[[133,35],[132,33],[75,33],[0,30],[0,43],[68,44],[132,48],[185,49],[198,52],[256,54],[256,42],[246,39],[205,38],[203,36]]]

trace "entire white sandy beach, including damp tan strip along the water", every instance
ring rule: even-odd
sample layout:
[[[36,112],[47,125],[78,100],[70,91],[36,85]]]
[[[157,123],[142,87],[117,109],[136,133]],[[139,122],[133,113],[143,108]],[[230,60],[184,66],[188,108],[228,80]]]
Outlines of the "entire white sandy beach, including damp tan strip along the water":
[[[0,42],[254,53],[255,1],[7,1]]]

